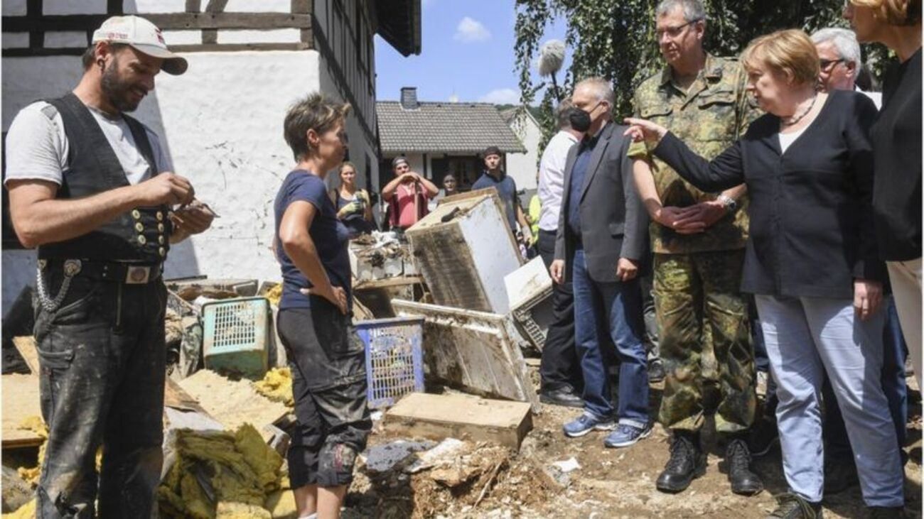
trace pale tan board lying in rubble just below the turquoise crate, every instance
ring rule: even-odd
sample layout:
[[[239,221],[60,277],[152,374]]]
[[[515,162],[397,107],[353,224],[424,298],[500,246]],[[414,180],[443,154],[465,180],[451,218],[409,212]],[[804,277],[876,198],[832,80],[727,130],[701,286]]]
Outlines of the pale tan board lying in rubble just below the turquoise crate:
[[[245,423],[260,429],[278,422],[289,412],[285,404],[273,402],[254,391],[249,380],[225,379],[208,369],[201,369],[177,383],[206,413],[230,430]]]

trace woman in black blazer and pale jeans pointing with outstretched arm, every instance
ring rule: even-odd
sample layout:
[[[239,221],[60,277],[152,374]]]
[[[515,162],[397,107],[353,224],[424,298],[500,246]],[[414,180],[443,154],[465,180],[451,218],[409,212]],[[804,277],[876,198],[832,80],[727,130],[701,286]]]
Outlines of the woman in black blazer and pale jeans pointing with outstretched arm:
[[[767,114],[711,163],[649,121],[627,119],[626,133],[646,139],[652,153],[704,191],[748,186],[741,289],[757,301],[778,383],[789,483],[778,512],[814,517],[821,510],[825,372],[857,456],[864,501],[897,512],[904,474],[880,383],[885,268],[873,228],[869,141],[876,107],[855,92],[816,90],[819,57],[801,30],[756,39],[743,61],[748,90]]]

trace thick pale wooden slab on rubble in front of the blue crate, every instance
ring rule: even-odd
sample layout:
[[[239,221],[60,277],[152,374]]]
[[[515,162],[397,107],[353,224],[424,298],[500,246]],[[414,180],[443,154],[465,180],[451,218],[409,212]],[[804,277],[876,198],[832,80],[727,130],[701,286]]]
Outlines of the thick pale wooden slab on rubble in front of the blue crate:
[[[408,438],[491,441],[517,450],[532,429],[532,412],[521,402],[412,392],[385,413],[384,428]]]

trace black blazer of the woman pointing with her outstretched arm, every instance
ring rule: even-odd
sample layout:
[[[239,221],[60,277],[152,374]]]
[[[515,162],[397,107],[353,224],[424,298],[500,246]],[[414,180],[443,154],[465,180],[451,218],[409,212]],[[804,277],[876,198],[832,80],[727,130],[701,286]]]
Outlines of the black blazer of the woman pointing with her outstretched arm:
[[[886,280],[871,205],[876,114],[862,93],[833,91],[785,153],[780,119],[766,114],[711,163],[671,133],[654,154],[704,191],[748,185],[743,292],[853,297],[855,279]]]

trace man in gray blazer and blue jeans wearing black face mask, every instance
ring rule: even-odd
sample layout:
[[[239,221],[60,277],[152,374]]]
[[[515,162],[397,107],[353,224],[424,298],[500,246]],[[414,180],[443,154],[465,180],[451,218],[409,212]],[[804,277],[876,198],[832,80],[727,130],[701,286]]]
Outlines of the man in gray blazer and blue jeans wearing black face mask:
[[[638,273],[648,254],[648,213],[636,193],[623,137],[610,121],[614,95],[603,78],[577,83],[571,127],[584,132],[568,153],[565,189],[550,271],[572,281],[575,339],[584,376],[584,414],[565,435],[614,430],[604,444],[626,447],[650,434],[648,363]],[[608,333],[609,337],[602,336]],[[609,340],[619,359],[619,404],[610,392]]]

